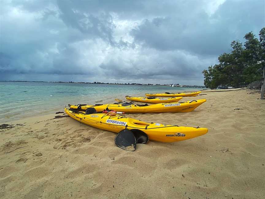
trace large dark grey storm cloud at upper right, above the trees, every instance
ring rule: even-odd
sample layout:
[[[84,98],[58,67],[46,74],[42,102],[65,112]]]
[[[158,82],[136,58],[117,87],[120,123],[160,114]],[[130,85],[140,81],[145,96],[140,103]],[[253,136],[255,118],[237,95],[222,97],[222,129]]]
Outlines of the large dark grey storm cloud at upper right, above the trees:
[[[264,1],[227,1],[210,17],[203,10],[172,13],[166,18],[144,20],[131,34],[135,41],[155,49],[219,55],[228,50],[232,40],[242,40],[245,33],[257,33],[263,27],[264,7]]]

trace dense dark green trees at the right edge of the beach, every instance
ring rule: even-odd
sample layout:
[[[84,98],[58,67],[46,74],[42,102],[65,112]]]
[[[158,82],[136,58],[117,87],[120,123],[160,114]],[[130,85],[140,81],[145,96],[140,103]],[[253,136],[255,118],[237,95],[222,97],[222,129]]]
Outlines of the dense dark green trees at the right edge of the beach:
[[[259,39],[252,32],[247,33],[244,39],[244,45],[239,40],[232,41],[231,52],[221,54],[219,64],[202,71],[207,88],[239,88],[262,78],[265,63],[258,63],[265,60],[265,27],[259,31]]]

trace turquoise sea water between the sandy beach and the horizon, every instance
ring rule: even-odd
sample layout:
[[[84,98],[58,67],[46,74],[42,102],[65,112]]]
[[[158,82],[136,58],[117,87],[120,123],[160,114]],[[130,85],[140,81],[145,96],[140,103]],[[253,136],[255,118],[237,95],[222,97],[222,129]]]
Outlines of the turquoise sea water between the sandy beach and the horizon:
[[[63,111],[70,104],[113,103],[114,98],[145,93],[195,91],[169,86],[0,82],[0,123]],[[52,96],[51,96],[52,95]]]

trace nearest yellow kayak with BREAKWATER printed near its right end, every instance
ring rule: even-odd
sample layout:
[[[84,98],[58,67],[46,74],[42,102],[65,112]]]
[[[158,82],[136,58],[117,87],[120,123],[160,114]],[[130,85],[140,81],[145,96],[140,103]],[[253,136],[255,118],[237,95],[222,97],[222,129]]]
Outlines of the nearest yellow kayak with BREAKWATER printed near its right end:
[[[131,130],[132,132],[141,131],[148,135],[150,140],[159,142],[178,142],[195,138],[208,132],[207,128],[147,123],[118,114],[115,116],[109,116],[105,113],[85,114],[85,112],[79,112],[68,108],[64,108],[64,111],[71,118],[91,127],[114,133],[119,133],[124,129]]]

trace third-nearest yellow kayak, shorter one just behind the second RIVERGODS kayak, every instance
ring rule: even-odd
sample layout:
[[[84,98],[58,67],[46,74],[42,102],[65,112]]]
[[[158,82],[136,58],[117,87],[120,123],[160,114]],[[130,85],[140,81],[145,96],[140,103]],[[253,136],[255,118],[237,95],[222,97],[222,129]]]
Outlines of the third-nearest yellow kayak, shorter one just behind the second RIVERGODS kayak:
[[[125,96],[127,100],[135,102],[146,102],[146,103],[170,103],[178,102],[182,97],[171,97],[171,98],[156,98],[156,97],[131,97]]]

